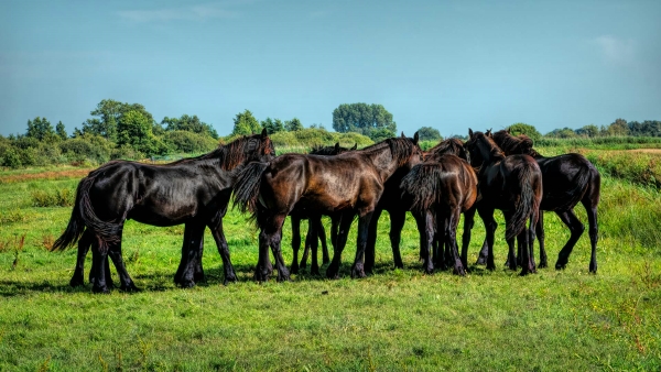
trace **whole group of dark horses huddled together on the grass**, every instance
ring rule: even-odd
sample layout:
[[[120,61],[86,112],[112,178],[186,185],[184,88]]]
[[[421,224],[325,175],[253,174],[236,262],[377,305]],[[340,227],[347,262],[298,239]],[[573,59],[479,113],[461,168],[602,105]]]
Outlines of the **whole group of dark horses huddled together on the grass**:
[[[256,281],[267,281],[273,272],[278,281],[290,278],[281,251],[282,227],[290,216],[291,271],[306,265],[312,250],[311,273],[318,274],[318,239],[326,276],[338,277],[349,228],[358,220],[357,249],[353,277],[371,273],[375,264],[377,222],[383,210],[390,215],[390,241],[397,267],[403,267],[399,244],[405,214],[410,211],[420,232],[423,270],[452,267],[465,274],[470,230],[477,211],[485,222],[486,240],[478,263],[494,270],[495,209],[506,219],[509,247],[507,264],[521,266],[521,275],[544,267],[543,214],[551,210],[570,228],[571,237],[559,253],[556,269],[563,269],[584,231],[574,215],[584,205],[589,226],[592,258],[589,271],[597,271],[597,205],[600,176],[579,154],[543,157],[525,135],[507,131],[473,132],[466,143],[442,141],[423,152],[418,133],[413,138],[387,139],[362,150],[338,144],[315,149],[310,154],[275,156],[266,130],[235,140],[205,155],[165,165],[112,161],[80,180],[76,201],[64,233],[53,250],[78,242],[78,255],[71,285],[84,284],[85,258],[91,248],[89,281],[94,292],[112,287],[108,256],[120,278],[120,288],[136,291],[122,261],[121,237],[127,219],[166,227],[184,223],[182,258],[174,282],[191,287],[204,280],[202,266],[204,230],[208,227],[223,259],[225,283],[236,281],[223,217],[230,197],[242,212],[250,212],[259,227],[259,259]],[[456,242],[460,214],[464,214],[462,251]],[[333,259],[326,248],[322,216],[332,220]],[[308,219],[305,252],[299,264],[300,222]],[[528,223],[528,227],[527,227]],[[533,242],[540,242],[535,265]],[[518,250],[514,251],[514,238]]]

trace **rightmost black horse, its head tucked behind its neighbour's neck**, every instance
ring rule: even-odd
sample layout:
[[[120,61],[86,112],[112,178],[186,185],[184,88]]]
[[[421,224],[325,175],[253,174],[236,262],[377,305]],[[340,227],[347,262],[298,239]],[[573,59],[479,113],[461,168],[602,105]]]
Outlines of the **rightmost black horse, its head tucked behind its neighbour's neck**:
[[[540,209],[554,211],[571,231],[570,240],[557,254],[557,261],[555,262],[556,270],[562,270],[566,266],[574,245],[583,234],[583,231],[585,231],[585,227],[574,214],[574,207],[578,203],[583,205],[587,214],[588,233],[592,244],[588,270],[590,273],[596,273],[597,206],[602,188],[599,171],[585,156],[576,153],[544,157],[532,149],[532,140],[525,134],[513,136],[508,130],[501,130],[494,133],[492,138],[494,142],[506,154],[527,154],[532,156],[540,165],[544,189]],[[545,267],[546,252],[544,249],[543,214],[540,214],[535,230],[540,243],[540,267]],[[484,256],[484,253],[486,252],[480,252],[480,258]]]

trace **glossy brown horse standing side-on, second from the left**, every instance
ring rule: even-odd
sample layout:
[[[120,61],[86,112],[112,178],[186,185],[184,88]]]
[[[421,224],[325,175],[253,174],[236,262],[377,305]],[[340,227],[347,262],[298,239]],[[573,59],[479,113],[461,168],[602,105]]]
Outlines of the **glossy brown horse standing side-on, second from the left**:
[[[383,185],[400,168],[410,169],[422,161],[418,140],[418,133],[413,139],[387,139],[336,156],[284,154],[243,168],[234,187],[235,206],[251,211],[260,228],[256,281],[269,278],[269,247],[275,256],[278,281],[289,280],[280,241],[282,223],[290,214],[308,218],[327,215],[339,221],[333,260],[326,270],[329,278],[338,277],[348,231],[358,216],[351,276],[364,277],[368,227]]]

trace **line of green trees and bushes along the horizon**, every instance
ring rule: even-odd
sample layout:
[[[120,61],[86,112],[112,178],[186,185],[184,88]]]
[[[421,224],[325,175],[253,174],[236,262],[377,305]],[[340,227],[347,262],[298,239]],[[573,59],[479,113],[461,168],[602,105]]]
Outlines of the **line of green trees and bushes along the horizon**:
[[[262,129],[267,129],[277,143],[307,147],[337,141],[365,146],[398,135],[392,113],[381,105],[362,102],[343,103],[333,111],[335,132],[327,131],[323,124],[305,128],[299,118],[281,120],[269,117],[259,121],[250,110],[243,110],[234,118],[232,131],[227,138],[220,138],[213,125],[195,114],[165,117],[158,122],[140,103],[104,99],[90,111],[90,116],[71,134],[62,121],[53,125],[46,118],[36,117],[28,120],[24,134],[0,135],[0,166],[100,164],[113,158],[198,154],[214,150],[219,141],[259,133]],[[509,129],[512,134],[525,133],[533,141],[542,138],[661,136],[661,122],[655,120],[627,122],[617,119],[606,127],[563,128],[545,135],[525,123],[514,123]],[[433,127],[421,127],[418,131],[422,141],[442,139]]]

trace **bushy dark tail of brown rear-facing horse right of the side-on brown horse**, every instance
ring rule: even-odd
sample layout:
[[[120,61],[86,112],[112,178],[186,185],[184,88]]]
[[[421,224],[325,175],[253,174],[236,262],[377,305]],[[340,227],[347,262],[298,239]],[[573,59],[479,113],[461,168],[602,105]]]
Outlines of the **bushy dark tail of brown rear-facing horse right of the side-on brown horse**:
[[[438,164],[419,164],[402,178],[402,197],[410,203],[411,210],[422,212],[437,201],[442,173]]]

